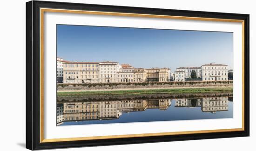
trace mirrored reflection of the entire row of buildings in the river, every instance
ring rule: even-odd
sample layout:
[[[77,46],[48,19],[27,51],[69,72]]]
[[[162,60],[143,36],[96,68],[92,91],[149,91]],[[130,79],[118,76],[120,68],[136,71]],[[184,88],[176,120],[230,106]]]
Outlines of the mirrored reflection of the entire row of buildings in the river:
[[[175,107],[201,107],[202,112],[216,113],[228,110],[228,97],[183,98],[173,101],[175,101]],[[58,103],[57,126],[65,121],[118,119],[122,113],[153,108],[167,110],[171,106],[171,102],[171,99],[158,99]]]

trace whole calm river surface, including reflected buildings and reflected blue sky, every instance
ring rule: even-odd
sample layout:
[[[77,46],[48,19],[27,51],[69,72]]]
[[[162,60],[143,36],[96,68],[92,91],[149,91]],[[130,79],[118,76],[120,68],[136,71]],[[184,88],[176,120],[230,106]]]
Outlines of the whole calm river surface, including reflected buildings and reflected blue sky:
[[[204,98],[67,101],[57,104],[57,125],[232,118],[231,98],[214,95]]]

